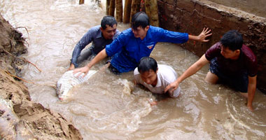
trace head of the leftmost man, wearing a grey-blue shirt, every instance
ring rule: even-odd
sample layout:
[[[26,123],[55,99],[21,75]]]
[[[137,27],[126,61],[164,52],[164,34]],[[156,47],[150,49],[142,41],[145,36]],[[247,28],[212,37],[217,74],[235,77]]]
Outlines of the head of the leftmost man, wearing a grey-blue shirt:
[[[116,22],[115,18],[110,15],[104,16],[101,22],[101,31],[104,38],[112,39],[113,36],[116,34],[117,25],[118,22]]]

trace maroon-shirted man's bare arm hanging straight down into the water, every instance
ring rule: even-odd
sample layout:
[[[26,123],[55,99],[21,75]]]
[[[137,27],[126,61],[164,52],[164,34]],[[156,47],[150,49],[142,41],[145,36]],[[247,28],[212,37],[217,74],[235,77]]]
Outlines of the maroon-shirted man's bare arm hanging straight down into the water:
[[[247,107],[249,110],[253,111],[252,102],[255,95],[255,87],[256,87],[257,76],[251,77],[248,76],[248,104]]]

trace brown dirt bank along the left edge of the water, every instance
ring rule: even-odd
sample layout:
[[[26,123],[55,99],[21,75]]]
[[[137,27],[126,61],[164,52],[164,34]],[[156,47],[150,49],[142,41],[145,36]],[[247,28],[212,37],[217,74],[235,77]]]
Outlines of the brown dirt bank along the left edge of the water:
[[[82,139],[59,113],[31,101],[21,76],[18,57],[27,52],[22,34],[0,15],[0,139]],[[13,76],[11,76],[13,75]]]

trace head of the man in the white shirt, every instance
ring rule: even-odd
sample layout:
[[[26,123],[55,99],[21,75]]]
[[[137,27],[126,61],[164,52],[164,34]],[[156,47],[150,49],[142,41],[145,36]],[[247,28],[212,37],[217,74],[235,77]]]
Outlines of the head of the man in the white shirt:
[[[155,86],[157,84],[158,64],[152,57],[142,57],[139,61],[138,71],[141,80],[145,83]]]

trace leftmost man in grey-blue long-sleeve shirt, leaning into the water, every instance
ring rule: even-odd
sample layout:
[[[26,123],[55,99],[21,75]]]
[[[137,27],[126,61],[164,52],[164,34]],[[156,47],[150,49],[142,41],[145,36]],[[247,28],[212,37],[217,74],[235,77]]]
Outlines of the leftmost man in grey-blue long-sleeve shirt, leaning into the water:
[[[101,25],[92,27],[76,44],[71,59],[69,70],[78,67],[78,64],[83,62],[91,55],[97,55],[103,50],[106,45],[113,42],[118,37],[120,31],[116,29],[118,22],[112,16],[104,16]],[[86,45],[92,42],[92,46],[83,50]],[[83,50],[81,52],[81,50]],[[80,55],[81,52],[81,55]]]

